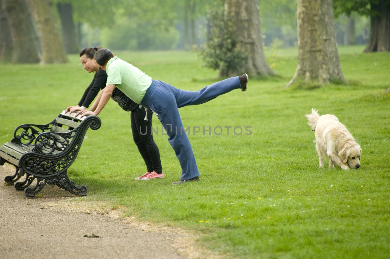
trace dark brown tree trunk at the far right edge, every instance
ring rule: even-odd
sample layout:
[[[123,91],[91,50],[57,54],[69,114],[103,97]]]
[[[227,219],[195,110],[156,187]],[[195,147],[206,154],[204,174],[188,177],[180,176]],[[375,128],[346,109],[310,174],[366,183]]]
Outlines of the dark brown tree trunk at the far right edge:
[[[371,4],[371,11],[379,15],[371,16],[370,37],[364,52],[390,51],[390,3],[381,0]]]

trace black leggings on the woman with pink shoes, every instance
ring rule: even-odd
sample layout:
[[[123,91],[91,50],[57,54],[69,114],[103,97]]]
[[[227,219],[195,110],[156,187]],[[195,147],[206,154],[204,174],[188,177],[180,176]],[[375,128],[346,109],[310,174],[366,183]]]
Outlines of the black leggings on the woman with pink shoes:
[[[147,110],[147,121],[145,118],[144,108],[137,108],[131,112],[131,131],[133,139],[145,161],[147,172],[156,171],[160,173],[161,167],[160,151],[153,140],[152,135],[152,115],[153,112]],[[142,133],[142,134],[141,134]]]

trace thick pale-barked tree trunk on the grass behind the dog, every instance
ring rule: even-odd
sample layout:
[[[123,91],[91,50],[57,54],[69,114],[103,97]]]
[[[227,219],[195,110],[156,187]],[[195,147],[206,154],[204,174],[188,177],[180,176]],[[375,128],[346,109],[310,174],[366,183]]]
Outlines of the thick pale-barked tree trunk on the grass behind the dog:
[[[298,67],[287,86],[304,80],[346,82],[342,75],[332,0],[298,0]]]

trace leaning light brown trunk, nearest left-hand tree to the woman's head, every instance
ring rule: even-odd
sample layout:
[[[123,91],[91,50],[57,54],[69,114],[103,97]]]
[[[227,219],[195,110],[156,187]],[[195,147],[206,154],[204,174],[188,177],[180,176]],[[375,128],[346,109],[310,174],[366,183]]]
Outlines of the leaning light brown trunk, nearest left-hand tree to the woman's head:
[[[27,0],[27,3],[41,39],[41,64],[67,62],[51,0]]]

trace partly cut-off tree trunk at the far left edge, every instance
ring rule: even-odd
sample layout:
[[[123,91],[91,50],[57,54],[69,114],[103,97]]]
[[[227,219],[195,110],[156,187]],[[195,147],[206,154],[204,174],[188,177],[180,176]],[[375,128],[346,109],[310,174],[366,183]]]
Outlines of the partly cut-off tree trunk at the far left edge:
[[[5,17],[0,0],[0,61],[9,62],[12,57],[12,39],[7,17]]]

